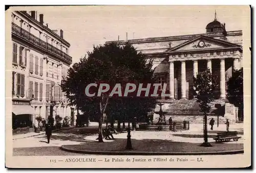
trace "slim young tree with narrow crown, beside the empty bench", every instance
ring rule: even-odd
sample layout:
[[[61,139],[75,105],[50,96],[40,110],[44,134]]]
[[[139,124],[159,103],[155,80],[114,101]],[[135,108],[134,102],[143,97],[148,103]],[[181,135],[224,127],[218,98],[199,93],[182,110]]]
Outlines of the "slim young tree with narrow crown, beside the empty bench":
[[[194,77],[195,97],[199,103],[200,111],[204,114],[204,143],[201,146],[211,146],[207,138],[207,113],[210,111],[210,104],[214,101],[214,91],[217,88],[216,76],[211,74],[210,69],[199,73]]]

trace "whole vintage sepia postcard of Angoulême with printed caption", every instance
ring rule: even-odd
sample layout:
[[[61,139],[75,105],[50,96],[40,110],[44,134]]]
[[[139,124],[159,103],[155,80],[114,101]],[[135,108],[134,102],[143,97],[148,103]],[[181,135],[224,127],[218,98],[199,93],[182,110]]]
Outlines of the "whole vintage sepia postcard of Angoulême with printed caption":
[[[6,167],[251,165],[250,6],[6,10]]]

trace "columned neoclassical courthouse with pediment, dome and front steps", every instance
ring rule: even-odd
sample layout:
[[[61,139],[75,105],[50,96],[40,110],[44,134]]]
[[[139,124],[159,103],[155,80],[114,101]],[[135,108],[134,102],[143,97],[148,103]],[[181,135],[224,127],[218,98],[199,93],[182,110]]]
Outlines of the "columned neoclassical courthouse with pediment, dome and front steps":
[[[162,98],[169,115],[180,117],[198,115],[193,99],[193,76],[209,68],[218,78],[216,100],[212,113],[220,104],[222,119],[235,119],[235,109],[227,103],[226,81],[233,69],[240,69],[243,60],[242,31],[226,31],[225,23],[215,19],[206,25],[205,33],[115,41],[120,45],[129,42],[138,51],[153,59],[158,83],[167,83],[169,97]],[[214,114],[212,114],[214,115]],[[190,119],[191,117],[185,117]]]

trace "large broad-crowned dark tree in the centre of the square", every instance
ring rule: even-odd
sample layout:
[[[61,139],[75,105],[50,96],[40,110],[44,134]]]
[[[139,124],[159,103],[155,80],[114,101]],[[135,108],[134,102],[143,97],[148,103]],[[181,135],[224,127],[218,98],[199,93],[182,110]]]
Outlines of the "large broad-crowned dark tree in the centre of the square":
[[[113,89],[116,83],[123,86],[126,83],[143,83],[154,81],[154,71],[152,70],[152,60],[147,62],[146,57],[138,53],[130,44],[119,46],[115,43],[94,46],[92,52],[88,52],[88,57],[80,59],[80,62],[75,63],[68,71],[67,79],[61,83],[61,88],[66,92],[70,99],[71,105],[76,105],[83,112],[98,115],[99,122],[99,142],[102,139],[102,121],[103,114],[106,110],[115,111],[113,103],[117,103],[118,109],[124,109],[122,100],[124,98],[112,97],[109,98],[105,93],[100,97],[87,97],[84,90],[90,83],[108,83],[110,89]],[[96,91],[97,89],[95,89]],[[119,101],[117,101],[119,99]],[[151,98],[154,101],[154,98]],[[135,100],[134,100],[135,101]],[[144,98],[142,101],[148,101]],[[154,104],[147,104],[148,109]],[[140,110],[147,110],[141,107]],[[122,111],[124,112],[124,111]],[[119,111],[119,113],[121,113]],[[126,115],[124,115],[126,116]]]

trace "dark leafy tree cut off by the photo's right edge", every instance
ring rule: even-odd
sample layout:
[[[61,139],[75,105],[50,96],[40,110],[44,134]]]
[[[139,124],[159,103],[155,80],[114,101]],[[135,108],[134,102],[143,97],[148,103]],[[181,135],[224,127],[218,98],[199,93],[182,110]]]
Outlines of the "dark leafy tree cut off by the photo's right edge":
[[[244,110],[244,88],[243,88],[243,68],[234,70],[232,77],[227,81],[227,99],[234,106],[238,107],[239,118],[243,119]]]

